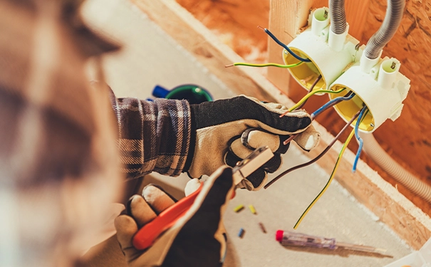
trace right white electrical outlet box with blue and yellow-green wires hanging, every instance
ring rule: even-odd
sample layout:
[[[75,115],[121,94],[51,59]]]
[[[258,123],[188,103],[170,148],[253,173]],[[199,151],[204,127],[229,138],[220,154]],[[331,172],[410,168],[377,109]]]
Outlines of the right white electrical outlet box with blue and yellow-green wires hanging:
[[[350,66],[330,87],[330,90],[346,88],[342,93],[330,94],[331,99],[346,95],[349,91],[355,93],[353,99],[334,106],[338,115],[348,122],[366,105],[369,112],[359,125],[361,132],[373,132],[385,120],[400,117],[410,80],[399,69],[400,61],[388,57],[381,58],[370,73],[363,72],[360,63]]]

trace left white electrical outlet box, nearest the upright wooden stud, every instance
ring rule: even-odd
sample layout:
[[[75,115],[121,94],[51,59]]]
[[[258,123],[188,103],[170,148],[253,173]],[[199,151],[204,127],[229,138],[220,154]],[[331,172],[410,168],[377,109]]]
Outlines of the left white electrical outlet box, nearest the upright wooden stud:
[[[299,33],[288,45],[297,55],[311,60],[289,68],[292,77],[306,90],[311,88],[319,75],[322,75],[322,78],[313,90],[328,90],[331,83],[348,66],[360,59],[356,48],[359,41],[347,35],[348,30],[346,36],[330,38],[329,21],[328,8],[322,7],[311,11],[308,18],[308,25],[311,26]],[[286,50],[283,51],[283,59],[286,65],[299,62]]]

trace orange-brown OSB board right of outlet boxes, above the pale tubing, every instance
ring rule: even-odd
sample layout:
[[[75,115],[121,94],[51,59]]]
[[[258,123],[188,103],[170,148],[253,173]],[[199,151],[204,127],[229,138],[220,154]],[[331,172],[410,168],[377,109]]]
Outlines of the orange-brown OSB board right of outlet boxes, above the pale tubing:
[[[385,11],[385,1],[370,1],[363,41],[378,30]],[[407,1],[401,26],[383,56],[400,60],[411,88],[401,117],[383,124],[375,137],[398,163],[431,184],[431,1]],[[423,209],[431,214],[430,204]]]

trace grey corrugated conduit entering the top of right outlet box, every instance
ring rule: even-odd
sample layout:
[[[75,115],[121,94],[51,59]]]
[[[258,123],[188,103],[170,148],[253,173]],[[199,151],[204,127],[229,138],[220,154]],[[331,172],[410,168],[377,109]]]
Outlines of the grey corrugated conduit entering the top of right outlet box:
[[[371,36],[367,46],[365,46],[364,53],[367,58],[378,58],[380,51],[393,38],[398,26],[400,26],[401,19],[403,19],[404,6],[405,0],[388,0],[388,8],[382,26]]]

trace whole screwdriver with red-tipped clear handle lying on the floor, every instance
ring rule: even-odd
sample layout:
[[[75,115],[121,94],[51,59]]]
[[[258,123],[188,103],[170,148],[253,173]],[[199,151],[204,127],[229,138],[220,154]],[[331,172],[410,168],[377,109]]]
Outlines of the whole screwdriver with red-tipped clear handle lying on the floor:
[[[276,231],[276,241],[279,241],[284,246],[311,246],[314,248],[345,248],[354,251],[365,251],[372,253],[385,253],[384,248],[374,248],[373,246],[362,246],[355,244],[348,244],[338,242],[336,239],[328,239],[321,236],[310,236],[308,234],[301,234],[291,231]]]

